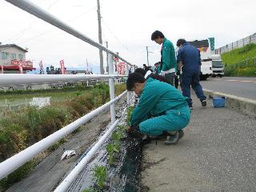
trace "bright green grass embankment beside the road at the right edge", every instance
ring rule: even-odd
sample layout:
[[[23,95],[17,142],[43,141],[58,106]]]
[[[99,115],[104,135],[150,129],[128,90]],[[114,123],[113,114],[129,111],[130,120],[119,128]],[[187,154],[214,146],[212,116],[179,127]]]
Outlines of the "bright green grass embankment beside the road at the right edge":
[[[222,54],[222,60],[226,64],[226,76],[256,76],[256,44],[254,43]]]

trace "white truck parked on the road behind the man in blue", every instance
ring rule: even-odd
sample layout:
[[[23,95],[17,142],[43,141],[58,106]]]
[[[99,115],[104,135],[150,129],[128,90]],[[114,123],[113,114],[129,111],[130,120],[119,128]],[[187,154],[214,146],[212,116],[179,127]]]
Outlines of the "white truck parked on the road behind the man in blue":
[[[198,48],[201,54],[200,80],[206,80],[210,76],[220,76],[224,74],[222,59],[219,54],[212,54],[209,39],[194,40],[189,42],[191,46]]]

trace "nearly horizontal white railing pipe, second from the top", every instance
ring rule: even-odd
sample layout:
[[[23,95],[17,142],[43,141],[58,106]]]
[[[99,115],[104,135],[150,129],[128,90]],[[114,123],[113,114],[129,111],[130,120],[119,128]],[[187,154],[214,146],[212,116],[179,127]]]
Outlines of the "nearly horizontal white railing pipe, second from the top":
[[[119,74],[0,74],[0,86],[24,86],[52,84],[58,82],[79,82],[88,79],[121,78]]]

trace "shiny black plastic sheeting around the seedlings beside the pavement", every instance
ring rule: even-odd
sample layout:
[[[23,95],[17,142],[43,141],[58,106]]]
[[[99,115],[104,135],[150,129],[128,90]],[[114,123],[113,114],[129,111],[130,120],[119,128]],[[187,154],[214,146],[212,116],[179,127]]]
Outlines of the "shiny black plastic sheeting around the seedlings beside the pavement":
[[[119,122],[119,126],[126,126],[126,115]],[[94,159],[82,170],[82,173],[79,174],[67,191],[140,191],[140,165],[142,159],[140,138],[132,138],[125,134],[124,138],[120,139],[119,153],[115,155],[112,165],[110,165],[110,156],[106,151],[106,146],[110,142],[113,142],[112,137],[102,145],[101,149],[98,150],[98,154],[95,154]],[[89,150],[86,150],[82,157]],[[78,162],[82,157],[78,159]],[[106,167],[106,181],[102,188],[98,187],[94,179],[94,168],[97,166]]]

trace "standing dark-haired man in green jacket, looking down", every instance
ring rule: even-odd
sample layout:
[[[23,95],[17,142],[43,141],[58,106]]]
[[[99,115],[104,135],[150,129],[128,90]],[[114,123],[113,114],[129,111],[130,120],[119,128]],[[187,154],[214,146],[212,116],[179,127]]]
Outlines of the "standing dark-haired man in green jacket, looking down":
[[[174,45],[170,42],[161,31],[156,30],[151,35],[151,40],[162,45],[161,50],[161,74],[174,86],[174,77],[177,69],[177,61],[174,51]]]

